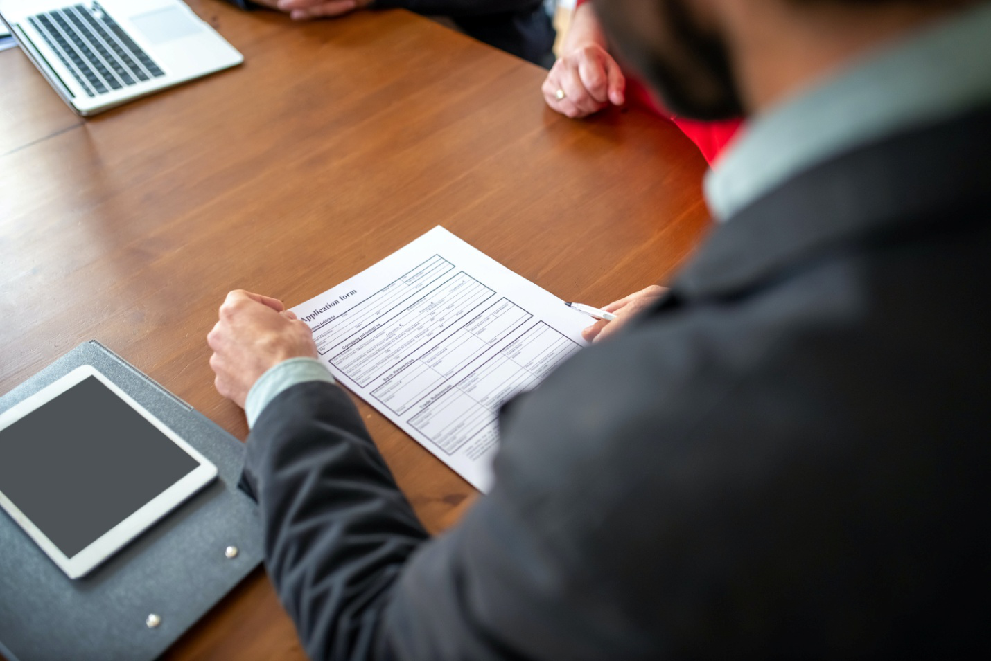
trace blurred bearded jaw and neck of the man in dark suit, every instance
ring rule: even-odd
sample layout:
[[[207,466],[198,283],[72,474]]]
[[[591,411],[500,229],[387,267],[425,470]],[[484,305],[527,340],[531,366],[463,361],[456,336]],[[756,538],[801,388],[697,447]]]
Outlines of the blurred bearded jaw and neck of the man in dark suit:
[[[597,0],[620,56],[675,113],[761,112],[975,0]]]

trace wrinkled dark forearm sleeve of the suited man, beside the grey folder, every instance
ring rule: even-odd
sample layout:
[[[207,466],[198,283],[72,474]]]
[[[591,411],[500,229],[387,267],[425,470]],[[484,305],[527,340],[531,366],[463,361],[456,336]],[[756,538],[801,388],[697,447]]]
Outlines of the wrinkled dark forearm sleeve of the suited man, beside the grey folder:
[[[373,658],[395,577],[428,535],[347,394],[307,382],[277,395],[248,438],[244,478],[310,658]]]

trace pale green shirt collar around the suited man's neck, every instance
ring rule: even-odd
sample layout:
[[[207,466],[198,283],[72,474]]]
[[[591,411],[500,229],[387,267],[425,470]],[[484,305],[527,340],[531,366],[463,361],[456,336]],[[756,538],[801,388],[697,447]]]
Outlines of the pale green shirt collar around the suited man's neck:
[[[724,221],[809,167],[991,101],[991,3],[883,47],[754,118],[706,175]]]

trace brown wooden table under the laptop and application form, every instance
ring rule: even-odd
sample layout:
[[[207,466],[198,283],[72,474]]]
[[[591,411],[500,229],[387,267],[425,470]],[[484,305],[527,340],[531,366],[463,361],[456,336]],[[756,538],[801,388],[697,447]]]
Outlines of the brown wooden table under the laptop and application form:
[[[0,52],[0,393],[96,338],[244,438],[204,339],[228,290],[295,305],[443,225],[606,304],[707,230],[703,158],[643,111],[563,118],[542,69],[403,11],[189,4],[246,63],[90,120]],[[475,490],[359,407],[426,526],[459,519]],[[305,658],[261,570],[166,657]]]

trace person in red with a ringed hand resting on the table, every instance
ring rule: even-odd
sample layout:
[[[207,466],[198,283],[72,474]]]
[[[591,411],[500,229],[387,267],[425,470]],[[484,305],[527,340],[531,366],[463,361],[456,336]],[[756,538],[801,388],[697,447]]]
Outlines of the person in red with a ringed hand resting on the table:
[[[560,57],[541,91],[548,106],[573,119],[610,105],[621,106],[627,100],[644,106],[673,122],[711,164],[740,127],[738,118],[700,122],[668,112],[636,78],[623,72],[609,52],[596,9],[588,0],[578,0]]]

